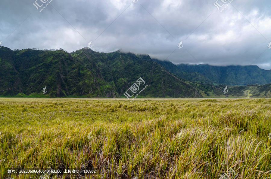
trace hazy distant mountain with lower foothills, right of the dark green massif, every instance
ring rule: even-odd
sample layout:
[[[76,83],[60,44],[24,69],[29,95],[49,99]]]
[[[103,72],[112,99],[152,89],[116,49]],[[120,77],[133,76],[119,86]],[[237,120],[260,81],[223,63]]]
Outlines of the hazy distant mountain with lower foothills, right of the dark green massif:
[[[158,59],[149,59],[154,62],[159,63],[161,66],[166,68],[171,74],[175,75],[176,77],[184,80],[186,83],[191,84],[195,89],[198,91],[198,95],[201,97],[242,97],[242,98],[270,98],[271,97],[271,80],[268,80],[271,76],[271,70],[263,70],[258,66],[250,65],[250,66],[227,66],[227,67],[216,67],[210,65],[186,65],[186,64],[179,64],[175,65],[170,61],[162,61]],[[195,68],[200,68],[201,66],[205,66],[205,69],[209,67],[210,72],[205,70],[204,73],[201,71],[196,71]],[[229,79],[233,77],[234,79],[232,83],[221,82],[218,79],[218,74],[223,74],[222,72],[219,73],[219,70],[212,69],[215,68],[226,68],[226,74],[228,73]],[[235,70],[235,74],[233,75],[232,71]],[[242,77],[240,71],[246,71],[246,76],[251,76],[248,80],[247,84],[241,84],[240,81],[245,81],[245,77]],[[259,74],[255,74],[255,71],[258,71],[259,74],[265,77],[265,82],[263,77]],[[211,76],[211,77],[210,77]],[[255,78],[257,76],[257,78]],[[210,79],[208,78],[210,77]],[[262,82],[261,82],[262,80]],[[261,84],[261,85],[248,85],[248,84]],[[236,85],[238,84],[238,85]],[[263,85],[265,84],[265,85]],[[239,86],[240,85],[240,86]],[[248,86],[244,86],[248,85]],[[228,93],[224,94],[223,89],[228,86]]]

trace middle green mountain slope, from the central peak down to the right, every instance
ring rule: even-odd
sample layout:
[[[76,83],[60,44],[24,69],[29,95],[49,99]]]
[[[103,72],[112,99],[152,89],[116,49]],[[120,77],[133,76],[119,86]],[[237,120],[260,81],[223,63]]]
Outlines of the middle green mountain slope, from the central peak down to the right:
[[[149,56],[133,53],[97,53],[90,49],[71,54],[86,68],[92,69],[102,80],[110,83],[122,95],[139,77],[149,85],[141,96],[148,97],[194,97],[196,90],[170,74]],[[155,74],[155,75],[154,75]]]

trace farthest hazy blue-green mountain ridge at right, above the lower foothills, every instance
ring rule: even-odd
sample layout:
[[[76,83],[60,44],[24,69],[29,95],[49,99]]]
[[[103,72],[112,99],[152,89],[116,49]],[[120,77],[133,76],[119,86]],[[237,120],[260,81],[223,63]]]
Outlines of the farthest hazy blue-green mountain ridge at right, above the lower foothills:
[[[198,73],[205,84],[225,84],[244,86],[248,84],[267,84],[271,82],[271,70],[264,70],[256,65],[249,66],[211,66],[207,64],[188,65],[179,64],[180,71],[187,74]],[[183,76],[185,79],[198,82],[193,76]],[[210,83],[211,82],[211,83]]]

